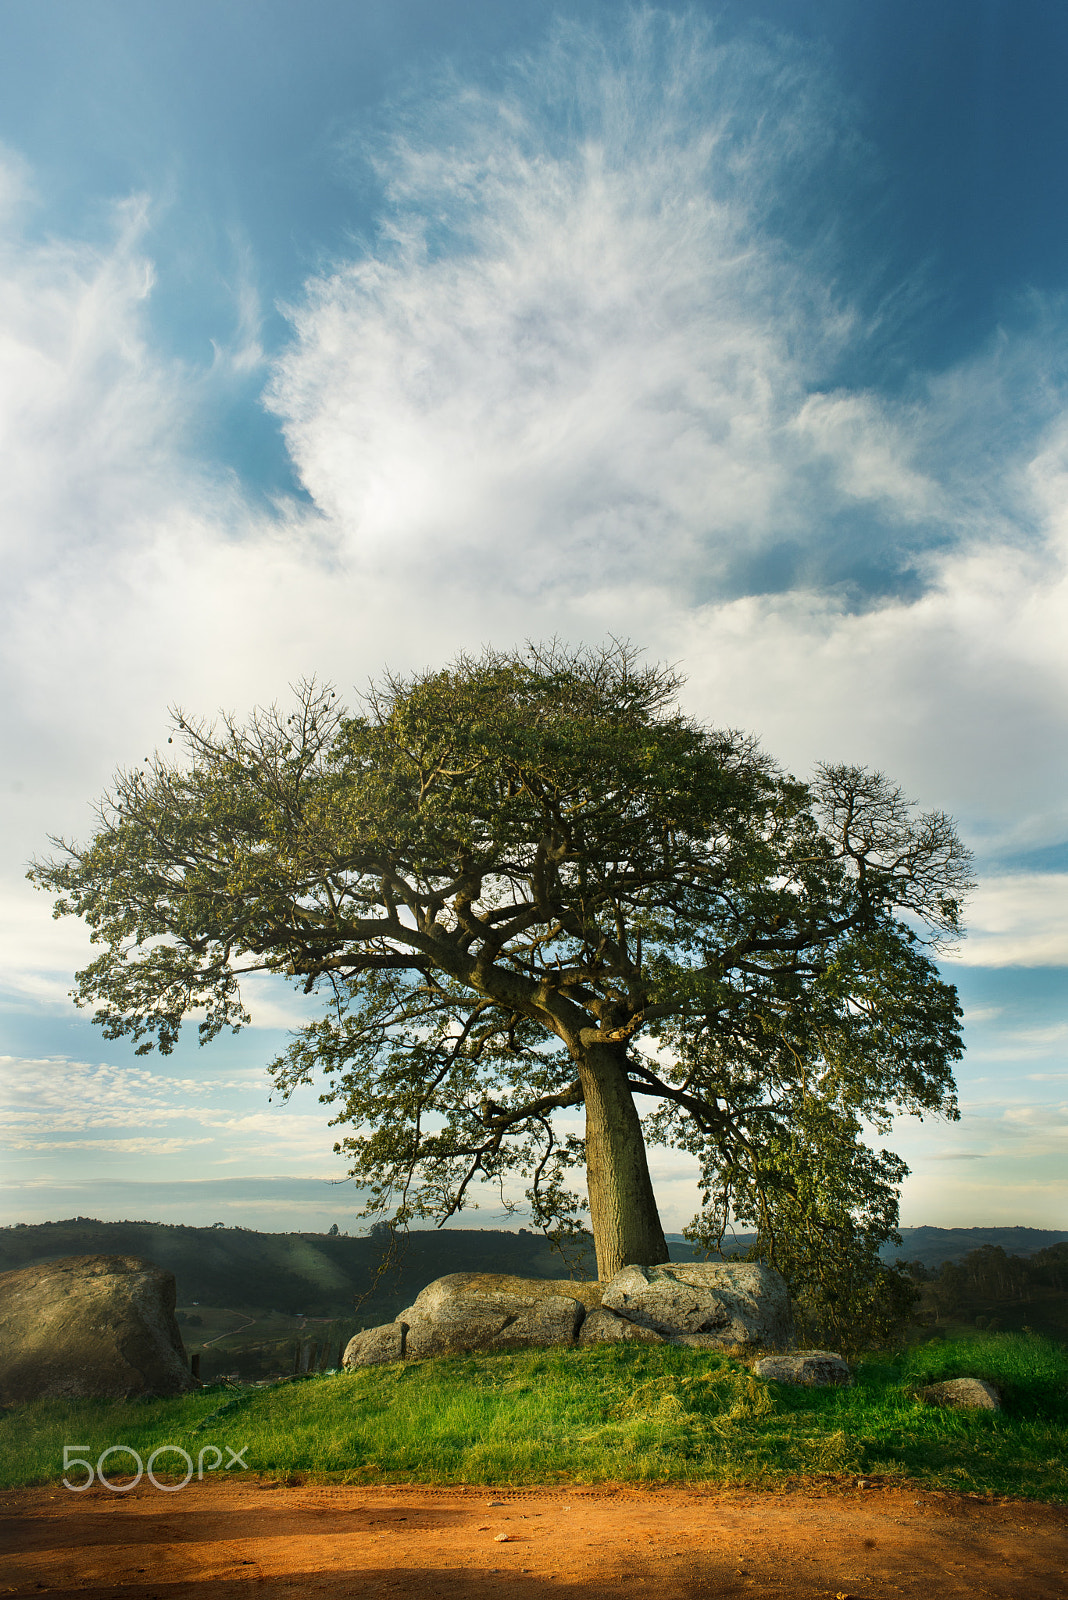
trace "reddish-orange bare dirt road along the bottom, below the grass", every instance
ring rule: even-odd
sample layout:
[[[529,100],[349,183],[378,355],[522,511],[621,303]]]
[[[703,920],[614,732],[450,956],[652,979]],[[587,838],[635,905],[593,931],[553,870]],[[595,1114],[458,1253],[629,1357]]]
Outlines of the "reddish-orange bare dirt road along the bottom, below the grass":
[[[0,1595],[1065,1600],[1068,1507],[913,1486],[0,1493]],[[500,1538],[500,1536],[505,1538]]]

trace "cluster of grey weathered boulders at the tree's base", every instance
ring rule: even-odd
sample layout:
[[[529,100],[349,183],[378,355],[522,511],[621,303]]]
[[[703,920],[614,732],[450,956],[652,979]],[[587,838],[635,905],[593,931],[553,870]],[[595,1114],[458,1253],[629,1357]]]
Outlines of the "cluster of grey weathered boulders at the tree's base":
[[[395,1322],[358,1333],[344,1366],[619,1339],[783,1349],[793,1341],[787,1285],[753,1262],[624,1267],[604,1286],[452,1272],[428,1283]]]

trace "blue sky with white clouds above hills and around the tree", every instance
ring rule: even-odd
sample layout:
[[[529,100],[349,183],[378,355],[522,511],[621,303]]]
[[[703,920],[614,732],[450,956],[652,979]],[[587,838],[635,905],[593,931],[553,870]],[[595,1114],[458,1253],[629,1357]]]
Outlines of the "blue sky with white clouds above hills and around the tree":
[[[895,1125],[902,1222],[1065,1227],[1060,0],[0,18],[2,1219],[361,1226],[267,1098],[307,1002],[139,1058],[69,1000],[26,864],[168,707],[614,635],[958,819],[962,1117]]]

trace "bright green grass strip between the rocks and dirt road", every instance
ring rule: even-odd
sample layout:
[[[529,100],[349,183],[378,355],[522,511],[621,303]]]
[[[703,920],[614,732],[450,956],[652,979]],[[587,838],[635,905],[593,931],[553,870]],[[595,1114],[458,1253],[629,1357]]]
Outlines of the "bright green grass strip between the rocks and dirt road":
[[[998,1384],[1004,1410],[918,1398],[923,1384],[956,1376]],[[798,1389],[718,1352],[595,1346],[173,1400],[40,1400],[0,1418],[3,1485],[59,1482],[74,1443],[91,1461],[109,1445],[133,1445],[142,1461],[160,1445],[193,1459],[229,1446],[283,1480],[785,1486],[867,1474],[1068,1501],[1068,1352],[1026,1334],[940,1339],[862,1362],[851,1389]],[[112,1456],[109,1475],[118,1480],[123,1464]],[[168,1458],[158,1466],[163,1477]]]

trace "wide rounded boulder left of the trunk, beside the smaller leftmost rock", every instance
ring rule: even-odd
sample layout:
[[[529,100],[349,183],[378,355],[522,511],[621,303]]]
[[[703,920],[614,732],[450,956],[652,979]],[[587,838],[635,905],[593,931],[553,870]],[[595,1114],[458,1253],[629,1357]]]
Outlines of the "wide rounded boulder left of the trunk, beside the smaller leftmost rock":
[[[587,1302],[598,1299],[596,1283],[451,1272],[428,1283],[400,1314],[398,1322],[408,1323],[404,1355],[422,1360],[449,1350],[572,1344]]]

